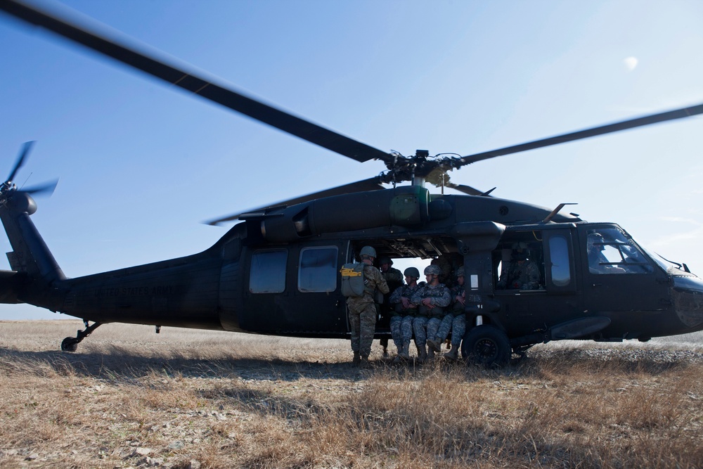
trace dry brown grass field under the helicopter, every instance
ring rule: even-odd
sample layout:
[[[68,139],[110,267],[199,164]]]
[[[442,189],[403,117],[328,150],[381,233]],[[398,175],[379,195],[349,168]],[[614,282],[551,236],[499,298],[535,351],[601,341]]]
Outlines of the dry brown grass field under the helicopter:
[[[498,371],[348,342],[0,322],[3,468],[703,468],[703,336]]]

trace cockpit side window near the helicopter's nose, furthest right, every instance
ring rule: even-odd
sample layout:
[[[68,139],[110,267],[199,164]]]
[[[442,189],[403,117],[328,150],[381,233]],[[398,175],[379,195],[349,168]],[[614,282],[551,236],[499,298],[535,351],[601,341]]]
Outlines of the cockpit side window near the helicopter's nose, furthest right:
[[[591,274],[647,274],[654,267],[633,240],[611,227],[588,230],[588,271]]]

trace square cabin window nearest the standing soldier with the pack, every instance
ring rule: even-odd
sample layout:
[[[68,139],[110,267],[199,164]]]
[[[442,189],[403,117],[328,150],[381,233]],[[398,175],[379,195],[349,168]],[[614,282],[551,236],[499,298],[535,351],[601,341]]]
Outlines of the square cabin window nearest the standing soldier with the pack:
[[[337,247],[304,248],[300,251],[298,290],[333,292],[337,290]]]

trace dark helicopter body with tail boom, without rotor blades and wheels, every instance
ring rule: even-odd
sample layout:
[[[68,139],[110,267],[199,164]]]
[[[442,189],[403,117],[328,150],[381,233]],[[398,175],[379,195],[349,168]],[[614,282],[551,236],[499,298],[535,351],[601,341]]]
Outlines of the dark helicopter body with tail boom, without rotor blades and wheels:
[[[18,232],[13,219],[28,219],[13,212],[3,213],[8,236]],[[499,328],[514,349],[561,339],[649,340],[703,328],[703,282],[654,259],[617,224],[498,198],[430,195],[418,186],[242,218],[196,255],[50,281],[38,270],[25,272],[22,282],[4,280],[6,290],[14,289],[5,296],[97,323],[346,338],[340,269],[371,245],[392,259],[437,259],[446,283],[463,266],[467,322]],[[21,232],[25,245],[44,244]],[[592,256],[594,235],[599,259]],[[538,266],[538,288],[502,285],[518,243]]]

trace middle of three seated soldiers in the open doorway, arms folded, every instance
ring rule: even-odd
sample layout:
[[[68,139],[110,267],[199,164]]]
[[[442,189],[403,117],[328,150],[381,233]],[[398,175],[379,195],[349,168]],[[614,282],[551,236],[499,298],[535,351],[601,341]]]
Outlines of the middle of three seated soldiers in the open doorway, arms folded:
[[[418,288],[411,298],[411,302],[418,305],[418,316],[413,319],[413,332],[420,361],[434,357],[433,349],[427,354],[427,335],[437,335],[437,328],[445,314],[444,309],[451,301],[449,288],[446,288],[444,283],[439,283],[440,274],[441,271],[436,265],[425,267],[427,283]]]

